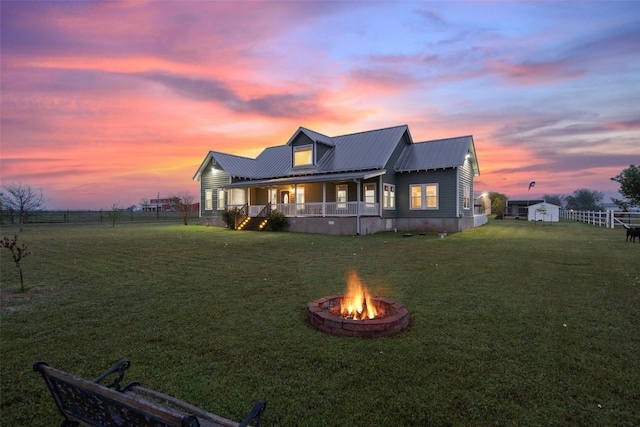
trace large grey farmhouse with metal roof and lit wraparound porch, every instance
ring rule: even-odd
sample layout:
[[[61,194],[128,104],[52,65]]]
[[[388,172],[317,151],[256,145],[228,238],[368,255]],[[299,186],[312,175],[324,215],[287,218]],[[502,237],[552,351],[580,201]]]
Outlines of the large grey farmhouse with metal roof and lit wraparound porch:
[[[414,142],[402,125],[333,137],[301,127],[255,159],[210,151],[194,180],[203,223],[224,225],[226,208],[247,218],[275,209],[290,231],[371,234],[481,225],[478,175],[472,136]]]

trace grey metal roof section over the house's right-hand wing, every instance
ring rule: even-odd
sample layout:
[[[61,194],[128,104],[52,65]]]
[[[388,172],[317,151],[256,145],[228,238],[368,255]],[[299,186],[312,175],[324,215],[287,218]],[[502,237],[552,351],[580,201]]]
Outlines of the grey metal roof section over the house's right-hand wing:
[[[408,145],[400,155],[395,171],[455,168],[464,164],[467,154],[470,155],[474,174],[479,175],[473,137],[470,135]]]

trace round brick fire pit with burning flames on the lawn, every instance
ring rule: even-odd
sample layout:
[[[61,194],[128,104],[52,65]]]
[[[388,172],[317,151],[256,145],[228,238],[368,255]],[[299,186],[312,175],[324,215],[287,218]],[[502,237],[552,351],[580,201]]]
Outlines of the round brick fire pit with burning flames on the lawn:
[[[307,317],[323,332],[350,337],[383,337],[409,326],[409,312],[403,305],[372,297],[353,271],[347,279],[347,294],[310,302]]]

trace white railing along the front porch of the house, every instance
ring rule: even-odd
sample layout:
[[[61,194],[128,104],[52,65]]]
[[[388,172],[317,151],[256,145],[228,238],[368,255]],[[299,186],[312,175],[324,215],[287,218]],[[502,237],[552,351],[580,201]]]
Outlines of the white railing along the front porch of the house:
[[[360,215],[375,216],[380,213],[378,203],[367,202],[344,202],[344,203],[273,203],[272,210],[282,212],[285,216],[356,216],[358,215],[358,204],[360,205]],[[230,206],[233,207],[233,206]],[[249,205],[249,216],[259,216],[265,205]]]

